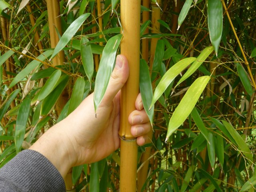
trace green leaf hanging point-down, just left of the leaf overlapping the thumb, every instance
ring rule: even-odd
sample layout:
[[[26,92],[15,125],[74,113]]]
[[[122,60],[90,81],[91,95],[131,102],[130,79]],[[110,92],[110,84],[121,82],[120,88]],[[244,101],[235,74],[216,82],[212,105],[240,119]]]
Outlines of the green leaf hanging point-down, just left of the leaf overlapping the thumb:
[[[88,80],[90,84],[92,84],[92,76],[94,71],[94,62],[93,62],[93,55],[92,55],[92,47],[90,44],[87,44],[89,42],[88,38],[82,37],[81,38],[81,57],[82,57],[82,63],[84,66],[84,71],[88,77]]]

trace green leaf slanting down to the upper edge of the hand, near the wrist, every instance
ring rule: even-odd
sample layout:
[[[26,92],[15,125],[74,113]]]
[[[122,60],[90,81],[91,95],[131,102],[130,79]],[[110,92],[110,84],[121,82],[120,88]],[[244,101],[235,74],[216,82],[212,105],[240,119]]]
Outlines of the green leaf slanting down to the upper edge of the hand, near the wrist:
[[[70,104],[68,106],[68,115],[74,111],[83,100],[85,81],[83,77],[76,80],[72,95],[70,98]]]

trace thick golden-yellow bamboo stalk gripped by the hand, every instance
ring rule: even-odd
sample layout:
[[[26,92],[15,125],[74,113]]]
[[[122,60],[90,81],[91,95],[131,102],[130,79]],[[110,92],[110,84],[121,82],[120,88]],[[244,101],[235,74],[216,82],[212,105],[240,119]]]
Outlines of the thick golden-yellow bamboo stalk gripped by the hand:
[[[121,54],[126,56],[130,74],[121,90],[120,113],[120,192],[136,192],[138,148],[136,138],[130,133],[129,114],[135,110],[139,93],[140,74],[140,1],[121,0],[123,39]]]

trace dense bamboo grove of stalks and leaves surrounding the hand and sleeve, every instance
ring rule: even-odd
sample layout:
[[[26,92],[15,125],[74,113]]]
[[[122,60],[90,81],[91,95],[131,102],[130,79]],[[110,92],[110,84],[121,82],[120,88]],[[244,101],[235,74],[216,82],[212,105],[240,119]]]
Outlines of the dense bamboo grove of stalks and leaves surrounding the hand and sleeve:
[[[255,10],[255,0],[0,0],[0,167],[92,92],[96,110],[122,52],[140,59],[127,97],[140,86],[153,128],[137,191],[253,192]],[[67,190],[129,184],[120,153],[72,168]]]

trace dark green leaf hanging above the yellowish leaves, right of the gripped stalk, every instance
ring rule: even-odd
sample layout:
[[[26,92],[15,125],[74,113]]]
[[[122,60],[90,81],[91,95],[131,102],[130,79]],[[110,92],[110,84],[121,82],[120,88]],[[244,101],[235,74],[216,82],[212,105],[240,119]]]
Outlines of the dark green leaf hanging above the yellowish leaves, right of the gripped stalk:
[[[156,51],[155,51],[155,56],[154,56],[154,61],[153,61],[151,81],[153,81],[156,78],[157,72],[160,71],[163,58],[164,58],[164,41],[162,39],[160,39],[157,41],[157,44],[156,44]]]

